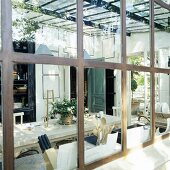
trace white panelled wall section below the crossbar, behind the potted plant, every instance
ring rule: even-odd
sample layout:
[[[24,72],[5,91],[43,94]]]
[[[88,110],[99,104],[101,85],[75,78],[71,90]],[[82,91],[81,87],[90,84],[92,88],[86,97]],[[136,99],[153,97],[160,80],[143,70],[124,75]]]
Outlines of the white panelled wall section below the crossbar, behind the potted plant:
[[[42,67],[42,64],[36,64],[36,120],[37,121],[41,121],[42,117],[45,116],[47,113],[47,100],[45,99],[47,93],[46,90],[44,89],[54,90],[55,100],[63,99],[64,97],[70,98],[70,68],[67,66],[46,65],[46,71],[47,69],[49,69],[50,74],[57,75],[58,81],[53,81],[54,79],[53,75],[51,77],[49,76],[49,79],[52,79],[51,81],[45,81],[47,80],[47,75],[44,76],[45,79],[43,81],[42,68],[44,68],[44,66],[45,65],[43,65]],[[51,72],[52,68],[54,71],[53,73]],[[52,102],[52,100],[49,100],[49,102]],[[49,110],[50,110],[50,106],[49,106]]]

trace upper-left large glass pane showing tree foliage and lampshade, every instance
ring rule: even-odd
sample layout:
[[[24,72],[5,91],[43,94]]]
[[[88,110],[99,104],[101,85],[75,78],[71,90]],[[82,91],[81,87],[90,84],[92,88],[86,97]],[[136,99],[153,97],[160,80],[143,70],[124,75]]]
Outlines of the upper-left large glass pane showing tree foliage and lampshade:
[[[13,0],[12,18],[14,51],[77,58],[76,0]]]

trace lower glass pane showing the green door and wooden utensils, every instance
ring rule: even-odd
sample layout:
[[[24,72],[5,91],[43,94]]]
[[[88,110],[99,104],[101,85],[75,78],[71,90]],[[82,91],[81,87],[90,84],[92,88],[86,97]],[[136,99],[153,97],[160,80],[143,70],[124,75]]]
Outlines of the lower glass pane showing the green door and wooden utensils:
[[[121,151],[121,71],[86,68],[85,163]]]

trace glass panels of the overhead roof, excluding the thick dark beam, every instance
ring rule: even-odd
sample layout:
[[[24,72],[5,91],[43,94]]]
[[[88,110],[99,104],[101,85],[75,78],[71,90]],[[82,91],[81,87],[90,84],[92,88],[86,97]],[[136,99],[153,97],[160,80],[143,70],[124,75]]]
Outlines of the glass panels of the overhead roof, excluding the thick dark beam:
[[[117,6],[118,11],[120,7],[120,0],[104,0],[110,5]],[[169,0],[170,1],[170,0]],[[91,3],[88,3],[91,2]],[[118,27],[120,24],[120,16],[118,11],[111,12],[106,9],[106,6],[98,6],[95,0],[86,1],[84,0],[84,7],[83,7],[83,15],[84,21],[90,21],[93,27],[97,27],[99,24],[102,26],[113,26],[114,28]],[[36,13],[33,11],[25,10],[26,17],[29,19],[33,19],[35,21],[40,22],[41,24],[49,24],[59,27],[67,27],[72,28],[73,25],[75,27],[75,19],[76,19],[76,1],[75,0],[30,0],[27,3],[42,7],[43,9],[49,10],[53,12],[52,16],[49,16],[42,13]],[[168,26],[168,18],[169,12],[165,9],[161,9],[160,6],[155,5],[155,22],[162,24],[163,26]],[[131,15],[127,16],[131,19],[127,19],[127,29],[135,30],[140,29],[138,28],[141,26],[141,30],[143,30],[142,26],[146,26],[144,24],[144,19],[149,20],[149,0],[127,0],[127,11],[131,13]],[[56,11],[56,16],[55,15]],[[62,14],[62,16],[60,16]],[[66,14],[66,15],[65,15]],[[68,15],[68,16],[67,16]],[[74,21],[69,20],[69,16],[73,17]],[[138,21],[133,18],[133,16],[141,17],[138,18]],[[57,18],[59,17],[59,18]],[[86,24],[86,23],[85,23]],[[93,25],[94,24],[94,25]],[[148,26],[148,25],[147,25]],[[92,28],[92,27],[91,27]],[[99,28],[98,30],[100,30]],[[89,26],[87,26],[87,30],[91,30]],[[84,25],[84,30],[86,31],[86,25]],[[95,28],[96,31],[96,28]]]

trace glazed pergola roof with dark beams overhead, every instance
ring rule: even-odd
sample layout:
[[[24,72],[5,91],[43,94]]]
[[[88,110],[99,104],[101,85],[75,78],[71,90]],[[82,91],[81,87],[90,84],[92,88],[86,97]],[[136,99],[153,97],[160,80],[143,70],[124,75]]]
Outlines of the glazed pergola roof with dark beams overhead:
[[[76,30],[76,0],[25,0],[27,18],[41,24]],[[120,30],[120,0],[84,0],[84,33],[113,34]],[[35,10],[36,7],[36,10]],[[127,3],[126,32],[149,31],[149,0],[134,0]],[[155,4],[155,29],[169,31],[170,13]],[[23,9],[22,9],[23,10]]]

